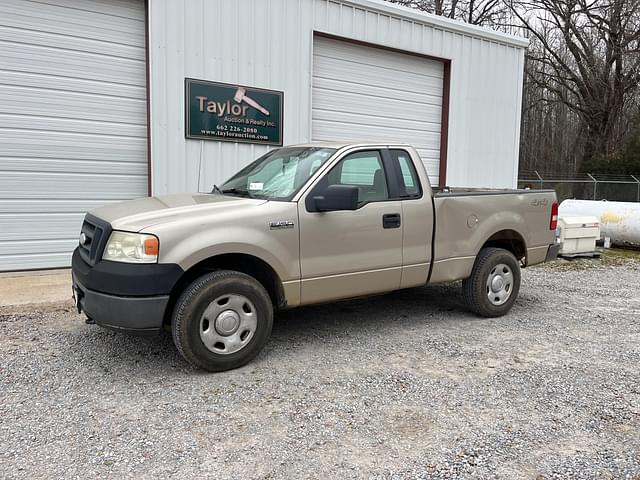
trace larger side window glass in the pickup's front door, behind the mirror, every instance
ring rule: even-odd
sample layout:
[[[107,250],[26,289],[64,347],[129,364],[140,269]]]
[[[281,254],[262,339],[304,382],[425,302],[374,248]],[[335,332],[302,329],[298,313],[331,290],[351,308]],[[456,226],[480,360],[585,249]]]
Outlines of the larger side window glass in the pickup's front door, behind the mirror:
[[[382,158],[376,150],[347,155],[329,172],[327,185],[358,187],[359,204],[389,199]]]

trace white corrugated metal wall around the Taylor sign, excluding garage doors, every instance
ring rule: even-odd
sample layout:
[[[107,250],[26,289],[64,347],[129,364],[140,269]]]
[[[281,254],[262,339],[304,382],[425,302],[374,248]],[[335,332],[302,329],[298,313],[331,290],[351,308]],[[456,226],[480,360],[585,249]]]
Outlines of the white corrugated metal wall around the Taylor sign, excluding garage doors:
[[[210,189],[267,147],[185,140],[184,78],[282,90],[311,139],[313,31],[451,60],[447,184],[514,187],[526,41],[377,0],[150,2],[154,194]]]

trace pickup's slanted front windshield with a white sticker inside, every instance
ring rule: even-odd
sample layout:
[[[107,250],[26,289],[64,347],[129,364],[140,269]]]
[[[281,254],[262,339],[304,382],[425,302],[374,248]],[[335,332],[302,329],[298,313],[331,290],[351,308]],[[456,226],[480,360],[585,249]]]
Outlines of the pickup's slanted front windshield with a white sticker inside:
[[[236,173],[219,190],[227,195],[291,200],[335,151],[320,147],[272,150]]]

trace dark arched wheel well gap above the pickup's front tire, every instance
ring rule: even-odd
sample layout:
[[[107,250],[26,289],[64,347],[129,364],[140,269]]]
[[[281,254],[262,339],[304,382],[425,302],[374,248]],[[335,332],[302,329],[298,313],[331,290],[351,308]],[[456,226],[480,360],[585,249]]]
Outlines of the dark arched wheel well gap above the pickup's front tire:
[[[274,308],[285,305],[284,289],[280,277],[264,260],[244,253],[226,253],[202,260],[184,272],[176,282],[169,296],[169,303],[164,314],[164,325],[171,324],[171,314],[180,294],[196,278],[215,270],[234,270],[255,278],[265,288]]]

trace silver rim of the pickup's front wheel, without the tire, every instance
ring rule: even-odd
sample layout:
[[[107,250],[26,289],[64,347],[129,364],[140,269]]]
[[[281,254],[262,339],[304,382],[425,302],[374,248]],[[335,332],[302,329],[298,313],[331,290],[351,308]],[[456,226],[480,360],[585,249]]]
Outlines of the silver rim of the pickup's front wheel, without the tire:
[[[221,295],[200,318],[200,339],[208,350],[230,355],[246,347],[255,335],[258,314],[244,295]]]

